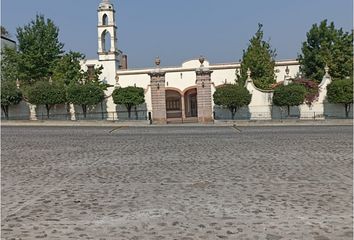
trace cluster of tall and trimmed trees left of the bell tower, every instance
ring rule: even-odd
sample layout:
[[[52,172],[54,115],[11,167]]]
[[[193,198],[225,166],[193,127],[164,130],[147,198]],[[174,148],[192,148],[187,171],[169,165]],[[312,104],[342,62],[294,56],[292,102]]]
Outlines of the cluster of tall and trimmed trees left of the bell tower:
[[[83,71],[80,62],[85,56],[64,53],[58,37],[58,27],[40,15],[17,28],[18,49],[5,47],[1,61],[1,107],[6,118],[9,106],[21,100],[44,105],[48,117],[55,104],[77,104],[86,117],[87,108],[104,99],[109,85],[99,80],[103,68]]]

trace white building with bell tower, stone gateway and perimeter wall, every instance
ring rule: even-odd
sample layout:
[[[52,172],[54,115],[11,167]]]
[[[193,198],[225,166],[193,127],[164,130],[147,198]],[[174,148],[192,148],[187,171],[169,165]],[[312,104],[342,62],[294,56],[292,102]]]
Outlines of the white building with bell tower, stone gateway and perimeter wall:
[[[125,119],[126,109],[115,105],[111,95],[114,88],[136,86],[145,90],[146,103],[138,106],[140,111],[136,115],[140,119],[146,119],[150,114],[155,123],[213,122],[215,119],[230,117],[227,109],[214,104],[212,96],[218,86],[236,81],[240,63],[214,64],[200,57],[185,61],[181,66],[160,67],[160,59],[157,58],[155,66],[151,68],[128,69],[127,56],[118,50],[114,5],[109,0],[102,0],[97,13],[98,59],[83,61],[82,69],[103,66],[101,80],[114,87],[106,91],[103,104],[91,109],[93,113],[101,113],[96,116],[107,120]],[[276,81],[284,81],[286,84],[290,78],[298,75],[299,63],[296,60],[277,61],[274,70]],[[293,107],[291,113],[302,119],[345,116],[344,107],[326,101],[326,87],[330,82],[327,70],[320,84],[318,100],[310,107],[305,104]],[[246,81],[246,88],[252,94],[252,101],[249,106],[237,112],[238,119],[266,120],[282,117],[282,109],[272,105],[273,91],[257,89],[250,77]],[[27,108],[24,109],[23,105]],[[42,106],[22,103],[11,111],[12,115],[21,118],[26,118],[24,114],[29,114],[29,119],[35,120],[41,119],[44,109]],[[56,105],[52,111],[53,114],[62,114],[72,120],[80,119],[80,112],[80,107],[72,104],[70,109],[66,109],[64,105]]]

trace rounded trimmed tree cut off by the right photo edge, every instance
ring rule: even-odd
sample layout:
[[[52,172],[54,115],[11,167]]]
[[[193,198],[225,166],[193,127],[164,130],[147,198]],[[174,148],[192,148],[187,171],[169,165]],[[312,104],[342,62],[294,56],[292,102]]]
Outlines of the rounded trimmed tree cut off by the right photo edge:
[[[327,99],[330,103],[343,104],[345,116],[353,104],[353,78],[333,81],[327,86]]]

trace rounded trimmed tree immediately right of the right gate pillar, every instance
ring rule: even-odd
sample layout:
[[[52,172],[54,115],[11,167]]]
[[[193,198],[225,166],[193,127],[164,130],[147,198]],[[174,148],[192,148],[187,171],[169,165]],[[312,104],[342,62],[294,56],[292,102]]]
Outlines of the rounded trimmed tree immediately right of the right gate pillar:
[[[216,105],[229,109],[234,119],[238,109],[251,103],[252,95],[241,85],[225,84],[216,89],[213,98]]]

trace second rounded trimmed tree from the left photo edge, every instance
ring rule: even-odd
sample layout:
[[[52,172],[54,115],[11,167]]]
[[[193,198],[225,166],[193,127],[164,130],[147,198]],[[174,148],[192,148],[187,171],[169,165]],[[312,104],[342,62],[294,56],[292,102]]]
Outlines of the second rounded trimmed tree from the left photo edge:
[[[47,110],[48,119],[49,111],[55,104],[63,104],[66,102],[64,86],[48,81],[37,81],[31,86],[27,86],[25,96],[31,104],[44,105]]]

